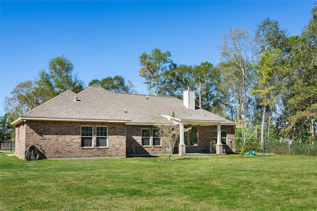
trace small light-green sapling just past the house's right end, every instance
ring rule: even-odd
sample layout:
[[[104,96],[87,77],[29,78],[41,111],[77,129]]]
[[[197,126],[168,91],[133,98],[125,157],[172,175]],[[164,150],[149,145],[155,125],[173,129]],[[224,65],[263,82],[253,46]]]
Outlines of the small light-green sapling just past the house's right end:
[[[239,148],[239,156],[240,158],[243,156],[244,153],[244,147],[245,144],[254,137],[256,134],[257,128],[253,127],[252,124],[250,124],[247,121],[240,120],[236,123],[237,130],[241,135],[242,138],[242,146]]]

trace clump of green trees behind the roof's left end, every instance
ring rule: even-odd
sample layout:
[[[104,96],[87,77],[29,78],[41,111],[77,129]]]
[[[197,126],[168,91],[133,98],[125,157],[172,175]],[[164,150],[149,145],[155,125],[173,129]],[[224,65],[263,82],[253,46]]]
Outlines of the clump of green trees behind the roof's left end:
[[[76,93],[83,90],[84,84],[77,78],[77,74],[73,75],[73,70],[74,66],[69,59],[64,55],[58,56],[49,61],[49,72],[41,70],[35,81],[18,83],[11,97],[5,97],[4,110],[9,113],[9,122],[67,89]]]

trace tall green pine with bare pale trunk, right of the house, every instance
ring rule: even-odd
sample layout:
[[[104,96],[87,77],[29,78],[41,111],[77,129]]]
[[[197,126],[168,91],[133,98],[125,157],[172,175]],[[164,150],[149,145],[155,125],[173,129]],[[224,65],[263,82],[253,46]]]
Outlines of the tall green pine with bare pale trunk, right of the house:
[[[258,70],[258,83],[253,90],[258,94],[260,105],[263,106],[261,126],[261,147],[264,149],[264,124],[267,118],[267,144],[269,146],[270,124],[273,108],[281,100],[281,94],[286,90],[289,73],[292,69],[286,68],[291,61],[291,45],[288,32],[281,29],[278,21],[269,17],[264,19],[256,30],[256,41],[260,46],[260,61],[255,67]],[[283,90],[282,90],[283,89]]]

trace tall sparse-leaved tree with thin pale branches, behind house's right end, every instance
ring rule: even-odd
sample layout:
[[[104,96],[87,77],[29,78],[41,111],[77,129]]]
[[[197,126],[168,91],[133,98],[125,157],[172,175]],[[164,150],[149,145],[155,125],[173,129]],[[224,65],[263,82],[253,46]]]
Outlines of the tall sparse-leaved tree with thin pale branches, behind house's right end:
[[[238,102],[236,107],[237,119],[248,120],[248,107],[250,101],[249,89],[254,84],[254,62],[257,56],[255,39],[246,29],[231,29],[220,38],[218,46],[221,52],[222,77],[229,86],[234,86],[233,97]]]

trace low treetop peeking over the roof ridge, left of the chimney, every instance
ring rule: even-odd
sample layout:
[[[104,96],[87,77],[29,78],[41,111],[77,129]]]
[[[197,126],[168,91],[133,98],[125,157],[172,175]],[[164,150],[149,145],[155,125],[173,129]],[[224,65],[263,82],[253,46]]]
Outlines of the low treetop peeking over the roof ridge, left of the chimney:
[[[89,83],[89,86],[91,85],[98,85],[108,91],[137,93],[132,82],[128,80],[126,84],[122,76],[114,76],[113,78],[108,76],[102,80],[94,79]]]

